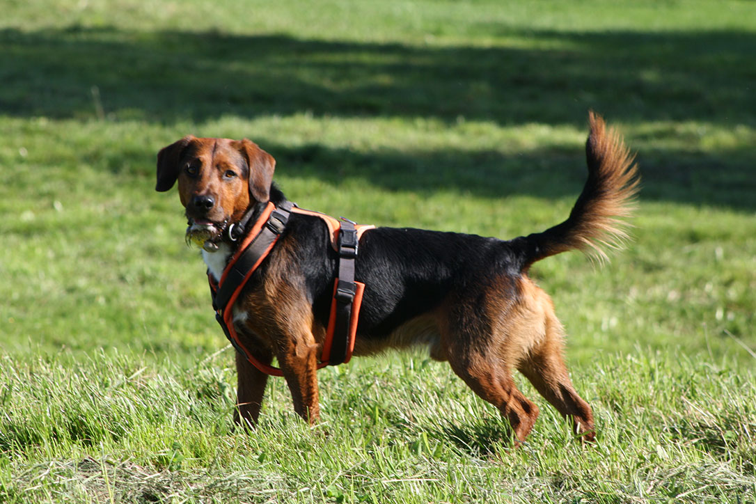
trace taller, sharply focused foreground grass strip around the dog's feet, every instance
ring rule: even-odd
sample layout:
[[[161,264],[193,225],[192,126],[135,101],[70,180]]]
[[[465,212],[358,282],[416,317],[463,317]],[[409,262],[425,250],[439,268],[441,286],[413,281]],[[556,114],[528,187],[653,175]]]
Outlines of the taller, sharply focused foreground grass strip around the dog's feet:
[[[4,403],[25,412],[5,420],[0,447],[32,459],[11,464],[6,499],[628,502],[687,493],[722,502],[752,492],[753,444],[743,440],[754,428],[754,384],[710,363],[604,358],[578,373],[607,426],[600,444],[582,447],[549,409],[512,450],[488,407],[417,356],[323,372],[326,421],[313,430],[276,381],[258,431],[233,432],[222,357],[191,369],[97,354],[24,369],[5,360],[13,385]]]

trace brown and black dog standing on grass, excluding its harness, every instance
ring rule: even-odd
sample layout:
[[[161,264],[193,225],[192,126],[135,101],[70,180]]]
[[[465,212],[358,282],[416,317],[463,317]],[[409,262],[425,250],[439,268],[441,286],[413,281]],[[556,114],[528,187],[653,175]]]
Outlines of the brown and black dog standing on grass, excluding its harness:
[[[588,178],[569,218],[542,233],[498,240],[460,233],[378,227],[359,242],[355,280],[365,284],[354,354],[428,345],[448,360],[472,391],[497,407],[517,440],[531,431],[538,407],[513,382],[513,369],[586,441],[593,413],[578,395],[562,358],[562,325],[549,296],[528,278],[535,261],[570,249],[617,246],[626,237],[618,218],[631,214],[637,168],[603,119],[590,114]],[[228,227],[268,202],[281,205],[272,182],[275,161],[248,140],[188,136],[160,150],[156,190],[178,193],[189,221],[187,240],[204,243],[209,274],[218,280],[235,242]],[[326,333],[338,256],[318,217],[292,214],[270,255],[254,272],[233,310],[246,348],[262,363],[276,357],[294,409],[318,421],[316,369]],[[240,422],[259,416],[268,375],[240,354]]]

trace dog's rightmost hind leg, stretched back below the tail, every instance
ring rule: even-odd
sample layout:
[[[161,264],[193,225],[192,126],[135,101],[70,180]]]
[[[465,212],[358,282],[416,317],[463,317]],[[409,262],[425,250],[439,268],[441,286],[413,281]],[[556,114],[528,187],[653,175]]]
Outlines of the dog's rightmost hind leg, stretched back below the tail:
[[[575,433],[582,441],[595,440],[593,413],[572,385],[562,358],[562,325],[553,314],[547,314],[545,338],[517,367],[562,416],[572,419]]]

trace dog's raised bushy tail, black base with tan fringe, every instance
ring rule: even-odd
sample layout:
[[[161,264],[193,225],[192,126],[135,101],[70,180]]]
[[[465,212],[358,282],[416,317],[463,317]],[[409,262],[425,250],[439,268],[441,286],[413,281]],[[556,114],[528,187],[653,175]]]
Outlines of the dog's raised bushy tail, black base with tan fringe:
[[[606,260],[604,249],[618,249],[627,240],[627,223],[639,190],[638,170],[622,138],[606,128],[601,116],[590,112],[590,135],[585,144],[588,180],[569,218],[543,233],[515,241],[522,243],[522,271],[535,261],[572,249]]]

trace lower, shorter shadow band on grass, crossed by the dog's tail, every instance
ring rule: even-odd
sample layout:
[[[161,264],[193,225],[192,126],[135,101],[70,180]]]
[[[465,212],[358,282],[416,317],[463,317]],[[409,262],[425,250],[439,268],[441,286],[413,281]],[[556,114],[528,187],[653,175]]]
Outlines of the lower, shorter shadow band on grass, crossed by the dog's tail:
[[[320,144],[290,147],[265,138],[256,140],[276,158],[279,175],[309,176],[334,186],[354,178],[420,194],[450,190],[488,198],[569,199],[578,197],[587,177],[581,150],[540,150],[510,157],[492,150],[361,153]],[[648,156],[639,152],[641,197],[752,211],[756,209],[756,176],[747,155],[745,147],[699,156],[669,150]]]

